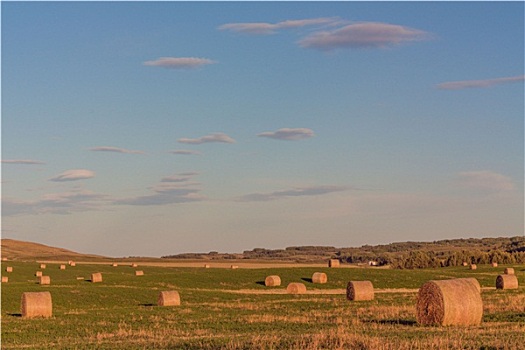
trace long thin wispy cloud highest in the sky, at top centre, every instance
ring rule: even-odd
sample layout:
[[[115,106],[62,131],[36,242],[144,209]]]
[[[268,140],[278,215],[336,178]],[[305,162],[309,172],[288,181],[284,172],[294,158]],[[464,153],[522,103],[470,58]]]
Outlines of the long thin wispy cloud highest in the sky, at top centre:
[[[335,24],[340,20],[338,18],[311,18],[287,20],[277,23],[252,22],[252,23],[227,23],[219,26],[220,30],[229,30],[236,33],[252,35],[274,34],[280,29],[300,28],[312,25]]]

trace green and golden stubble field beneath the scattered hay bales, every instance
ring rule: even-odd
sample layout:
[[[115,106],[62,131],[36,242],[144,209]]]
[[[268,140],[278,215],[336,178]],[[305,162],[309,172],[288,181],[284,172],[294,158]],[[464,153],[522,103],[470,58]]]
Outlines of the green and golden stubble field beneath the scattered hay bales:
[[[6,273],[5,267],[13,266]],[[496,290],[506,266],[430,270],[313,267],[224,269],[48,264],[51,285],[36,284],[36,262],[3,262],[2,349],[524,349],[525,293]],[[514,266],[525,283],[525,266]],[[314,272],[328,283],[312,284]],[[90,283],[101,272],[102,283]],[[281,287],[265,287],[268,275]],[[77,280],[84,277],[84,280]],[[475,277],[483,290],[483,322],[475,327],[416,323],[417,289],[430,279]],[[370,280],[375,300],[350,302],[350,280]],[[288,295],[302,282],[308,294]],[[50,291],[51,319],[20,317],[23,292]],[[163,290],[182,305],[156,306]]]

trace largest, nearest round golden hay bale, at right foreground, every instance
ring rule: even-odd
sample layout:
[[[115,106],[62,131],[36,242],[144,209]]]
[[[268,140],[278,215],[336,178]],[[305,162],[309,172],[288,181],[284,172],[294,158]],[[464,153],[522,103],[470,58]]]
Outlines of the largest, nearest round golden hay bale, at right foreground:
[[[483,301],[472,281],[428,281],[419,289],[416,319],[421,325],[479,325],[482,317]]]

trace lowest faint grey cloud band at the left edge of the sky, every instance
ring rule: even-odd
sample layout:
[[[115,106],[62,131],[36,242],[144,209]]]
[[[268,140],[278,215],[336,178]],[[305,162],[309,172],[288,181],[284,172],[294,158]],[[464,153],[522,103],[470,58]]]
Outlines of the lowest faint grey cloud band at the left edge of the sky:
[[[32,201],[2,199],[2,215],[71,214],[97,210],[108,201],[106,195],[87,190],[50,193]]]

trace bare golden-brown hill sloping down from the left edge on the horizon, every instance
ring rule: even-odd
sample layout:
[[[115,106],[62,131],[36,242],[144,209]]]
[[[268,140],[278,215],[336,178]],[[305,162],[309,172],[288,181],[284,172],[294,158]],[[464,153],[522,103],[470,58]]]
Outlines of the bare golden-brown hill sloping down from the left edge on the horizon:
[[[2,258],[9,260],[93,260],[105,257],[93,254],[81,254],[63,248],[50,247],[44,244],[17,241],[3,238],[1,240]]]

